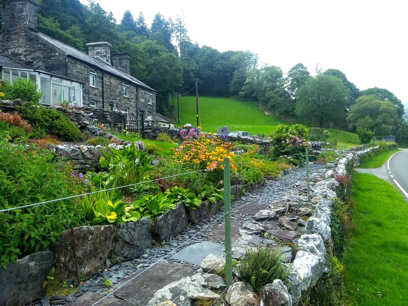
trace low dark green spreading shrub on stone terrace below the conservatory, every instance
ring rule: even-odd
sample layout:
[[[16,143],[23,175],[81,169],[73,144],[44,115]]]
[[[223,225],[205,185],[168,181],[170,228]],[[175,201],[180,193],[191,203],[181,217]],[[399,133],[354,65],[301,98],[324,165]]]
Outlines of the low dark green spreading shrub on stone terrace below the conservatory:
[[[16,107],[16,109],[23,119],[33,125],[34,130],[43,130],[46,134],[55,135],[63,141],[77,141],[82,137],[78,127],[55,109],[41,106]]]

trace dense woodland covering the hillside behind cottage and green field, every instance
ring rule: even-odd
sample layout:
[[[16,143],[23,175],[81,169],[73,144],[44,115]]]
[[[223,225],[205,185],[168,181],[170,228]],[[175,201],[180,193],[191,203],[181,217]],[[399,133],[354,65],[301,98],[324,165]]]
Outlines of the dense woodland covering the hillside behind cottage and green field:
[[[112,52],[131,55],[131,74],[157,90],[157,108],[171,116],[168,97],[198,84],[200,95],[259,102],[260,108],[290,121],[356,131],[361,138],[394,134],[408,142],[401,101],[384,88],[360,90],[338,69],[316,77],[302,63],[289,71],[258,65],[248,51],[219,52],[189,37],[183,16],[157,13],[151,26],[139,12],[115,20],[99,4],[79,0],[38,0],[39,30],[80,50],[88,42],[108,41]],[[194,94],[194,91],[191,91]]]

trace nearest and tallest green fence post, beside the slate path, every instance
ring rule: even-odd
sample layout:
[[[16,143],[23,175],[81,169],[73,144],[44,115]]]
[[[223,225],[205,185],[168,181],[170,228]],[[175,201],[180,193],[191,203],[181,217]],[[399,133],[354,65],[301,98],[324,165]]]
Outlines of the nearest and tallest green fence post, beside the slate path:
[[[231,241],[231,179],[230,159],[224,158],[224,211],[225,211],[225,277],[226,286],[233,283],[232,241]]]

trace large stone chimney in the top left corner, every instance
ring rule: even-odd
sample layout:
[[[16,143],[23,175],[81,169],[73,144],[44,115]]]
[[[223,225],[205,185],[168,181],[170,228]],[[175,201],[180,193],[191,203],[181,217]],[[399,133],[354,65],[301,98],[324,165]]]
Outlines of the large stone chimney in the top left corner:
[[[37,0],[0,0],[3,31],[37,30]]]

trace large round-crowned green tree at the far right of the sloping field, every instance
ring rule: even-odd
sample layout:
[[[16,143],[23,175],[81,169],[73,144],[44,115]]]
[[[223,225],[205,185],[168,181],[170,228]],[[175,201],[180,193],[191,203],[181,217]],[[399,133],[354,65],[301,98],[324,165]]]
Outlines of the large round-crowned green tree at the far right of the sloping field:
[[[301,121],[320,127],[328,122],[333,127],[344,120],[347,101],[348,89],[340,79],[318,75],[297,90],[295,111]]]

